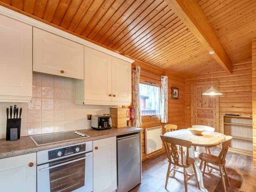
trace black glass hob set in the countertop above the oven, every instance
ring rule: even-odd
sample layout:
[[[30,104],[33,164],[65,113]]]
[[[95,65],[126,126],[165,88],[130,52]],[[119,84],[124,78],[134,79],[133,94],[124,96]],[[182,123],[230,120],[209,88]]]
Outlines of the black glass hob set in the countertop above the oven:
[[[80,132],[77,132],[77,131],[67,131],[67,132],[30,136],[30,138],[35,142],[37,146],[57,143],[62,141],[69,141],[74,139],[80,139],[84,137],[89,137],[89,136],[85,134],[81,134]]]

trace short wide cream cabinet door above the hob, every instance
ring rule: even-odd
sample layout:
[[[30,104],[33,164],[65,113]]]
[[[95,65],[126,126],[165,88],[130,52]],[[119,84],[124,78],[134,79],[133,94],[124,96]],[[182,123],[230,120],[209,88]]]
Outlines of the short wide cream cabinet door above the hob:
[[[84,79],[84,46],[33,28],[33,71]]]

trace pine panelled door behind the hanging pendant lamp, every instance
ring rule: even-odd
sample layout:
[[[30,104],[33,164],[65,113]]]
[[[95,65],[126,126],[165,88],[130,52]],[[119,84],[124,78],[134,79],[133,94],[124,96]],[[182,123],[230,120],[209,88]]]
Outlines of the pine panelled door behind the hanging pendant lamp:
[[[219,96],[202,95],[211,86],[211,82],[192,84],[191,118],[192,125],[206,125],[220,131]],[[218,90],[218,82],[213,82]]]

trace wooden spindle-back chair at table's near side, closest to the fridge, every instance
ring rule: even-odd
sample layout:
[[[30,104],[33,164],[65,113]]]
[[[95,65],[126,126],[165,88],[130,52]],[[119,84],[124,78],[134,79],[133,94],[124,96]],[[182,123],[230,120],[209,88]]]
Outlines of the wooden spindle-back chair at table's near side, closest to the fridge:
[[[196,185],[198,185],[197,174],[196,174],[196,166],[194,164],[194,159],[189,157],[189,148],[191,147],[192,142],[172,138],[168,136],[161,136],[162,142],[164,143],[164,149],[166,151],[166,155],[169,161],[168,170],[166,174],[166,182],[165,188],[167,188],[168,179],[170,172],[173,171],[173,176],[175,177],[175,172],[179,172],[184,174],[184,186],[185,192],[188,191],[188,180],[192,177],[196,177]],[[180,151],[178,150],[177,146],[180,146]],[[185,152],[183,152],[185,150]],[[171,168],[171,164],[173,164]],[[186,168],[193,166],[194,174],[188,174]],[[176,169],[176,166],[182,167],[183,172]]]

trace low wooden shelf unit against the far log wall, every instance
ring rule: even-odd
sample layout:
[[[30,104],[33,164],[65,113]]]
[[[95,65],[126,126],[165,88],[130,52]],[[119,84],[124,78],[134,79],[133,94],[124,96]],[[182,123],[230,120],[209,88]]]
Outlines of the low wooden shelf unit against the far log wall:
[[[229,151],[252,156],[252,117],[224,115],[223,133],[233,137]]]

